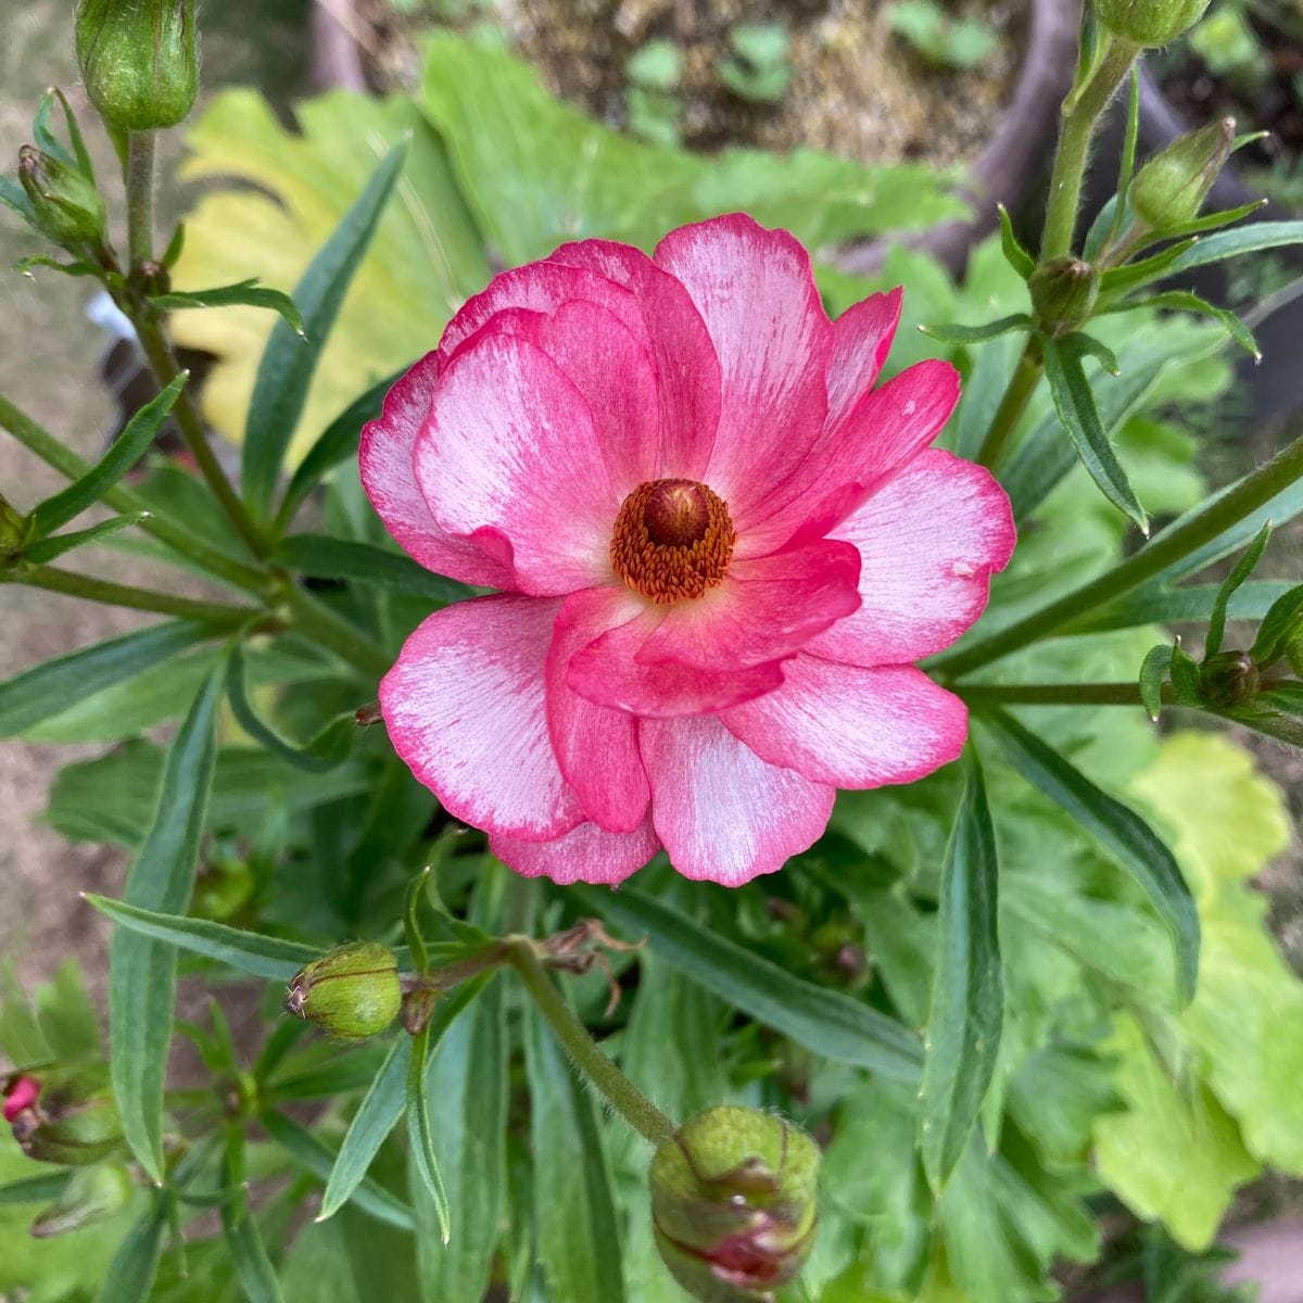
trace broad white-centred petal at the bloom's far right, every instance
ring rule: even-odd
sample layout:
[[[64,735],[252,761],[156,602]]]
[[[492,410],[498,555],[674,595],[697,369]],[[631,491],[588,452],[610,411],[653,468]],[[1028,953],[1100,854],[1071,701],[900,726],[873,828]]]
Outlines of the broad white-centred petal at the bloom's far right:
[[[990,472],[928,448],[843,521],[864,559],[863,605],[807,650],[850,665],[904,665],[950,646],[986,607],[1014,551],[1014,517]]]

